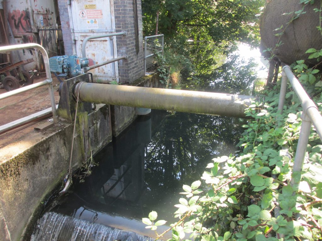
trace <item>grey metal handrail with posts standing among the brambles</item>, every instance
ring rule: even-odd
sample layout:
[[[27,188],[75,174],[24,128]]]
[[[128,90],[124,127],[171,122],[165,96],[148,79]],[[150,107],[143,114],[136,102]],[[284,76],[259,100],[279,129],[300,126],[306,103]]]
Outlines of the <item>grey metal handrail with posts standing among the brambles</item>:
[[[293,165],[293,173],[294,173],[294,172],[302,171],[304,157],[308,146],[308,138],[310,135],[311,124],[314,125],[316,132],[322,141],[322,116],[317,106],[308,96],[303,86],[300,84],[298,79],[294,76],[294,74],[292,73],[288,65],[285,65],[282,68],[282,85],[280,89],[279,106],[278,106],[278,110],[280,111],[280,113],[283,113],[287,79],[289,79],[289,82],[291,83],[294,89],[294,92],[297,94],[298,98],[300,99],[302,109],[303,109],[302,115],[301,115],[301,119],[302,119],[301,130],[300,130],[298,145],[297,145],[297,149],[294,157],[294,165]],[[298,182],[299,182],[299,179],[298,180],[294,180],[294,178],[291,179],[291,185],[298,185]]]

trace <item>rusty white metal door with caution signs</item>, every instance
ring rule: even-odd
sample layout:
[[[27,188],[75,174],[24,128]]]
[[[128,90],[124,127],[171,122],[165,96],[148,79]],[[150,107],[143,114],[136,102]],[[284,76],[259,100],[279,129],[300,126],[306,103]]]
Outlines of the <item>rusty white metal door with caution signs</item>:
[[[95,4],[92,4],[95,3]],[[81,56],[83,40],[88,36],[115,32],[113,0],[71,1],[70,22],[72,36],[75,39],[76,54]],[[116,37],[90,40],[86,44],[86,57],[90,64],[97,64],[117,58]],[[116,80],[118,82],[118,64],[111,63],[91,70],[97,82]]]

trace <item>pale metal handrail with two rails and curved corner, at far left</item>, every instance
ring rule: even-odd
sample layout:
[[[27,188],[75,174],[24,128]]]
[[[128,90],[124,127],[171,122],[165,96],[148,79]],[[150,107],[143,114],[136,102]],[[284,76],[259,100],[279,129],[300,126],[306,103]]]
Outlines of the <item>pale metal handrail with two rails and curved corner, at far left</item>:
[[[55,104],[55,98],[54,98],[54,90],[52,88],[52,75],[50,73],[50,67],[49,67],[49,58],[47,55],[46,50],[43,48],[43,46],[36,44],[36,43],[25,43],[25,44],[17,44],[17,45],[9,45],[9,46],[3,46],[0,47],[0,53],[6,53],[9,51],[13,51],[13,50],[19,50],[19,49],[30,49],[30,48],[34,48],[34,49],[39,49],[40,52],[43,54],[43,60],[44,60],[44,65],[45,65],[45,71],[46,71],[46,77],[47,79],[40,82],[40,83],[36,83],[33,85],[28,85],[13,91],[10,91],[8,93],[5,94],[1,94],[0,95],[0,100],[4,99],[4,98],[8,98],[10,96],[25,92],[27,90],[31,90],[43,85],[48,85],[48,90],[49,90],[49,96],[50,96],[50,102],[51,102],[51,106],[52,106],[52,117],[54,120],[54,123],[57,124],[58,123],[58,115],[57,115],[57,110],[56,110],[56,104]]]

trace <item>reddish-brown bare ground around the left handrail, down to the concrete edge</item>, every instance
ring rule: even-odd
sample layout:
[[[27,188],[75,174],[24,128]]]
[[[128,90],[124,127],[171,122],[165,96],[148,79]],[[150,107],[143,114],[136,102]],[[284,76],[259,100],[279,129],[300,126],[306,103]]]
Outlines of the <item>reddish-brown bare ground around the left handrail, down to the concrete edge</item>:
[[[45,74],[33,76],[34,82],[38,83],[46,79]],[[59,81],[52,75],[55,103],[59,102]],[[0,89],[0,94],[6,93],[5,89]],[[50,97],[47,85],[28,90],[24,93],[11,96],[0,100],[0,126],[9,122],[18,120],[36,112],[51,107]],[[52,127],[46,131],[36,131],[34,128],[52,121],[52,117],[33,123],[26,124],[22,127],[10,130],[0,134],[0,163],[12,158],[13,156],[23,152],[25,149],[34,145],[37,141],[45,138],[58,126]]]

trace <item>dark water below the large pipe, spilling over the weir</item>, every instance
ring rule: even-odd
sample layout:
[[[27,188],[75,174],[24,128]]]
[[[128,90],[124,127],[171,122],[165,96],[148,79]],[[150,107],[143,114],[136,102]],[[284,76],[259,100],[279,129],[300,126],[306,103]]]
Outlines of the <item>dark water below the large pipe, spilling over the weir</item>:
[[[158,219],[172,223],[182,185],[199,180],[212,158],[236,152],[239,125],[235,118],[179,112],[152,111],[137,118],[94,156],[99,166],[84,183],[74,179],[69,192],[51,209],[51,215],[60,216],[40,220],[34,240],[64,240],[55,238],[63,235],[65,240],[82,240],[82,236],[70,239],[73,234],[66,228],[57,229],[66,226],[60,223],[65,216],[75,219],[68,218],[69,227],[81,222],[89,233],[82,232],[91,237],[102,227],[90,223],[153,235],[147,233],[142,217],[154,210]],[[83,240],[109,240],[97,237],[104,238]]]

